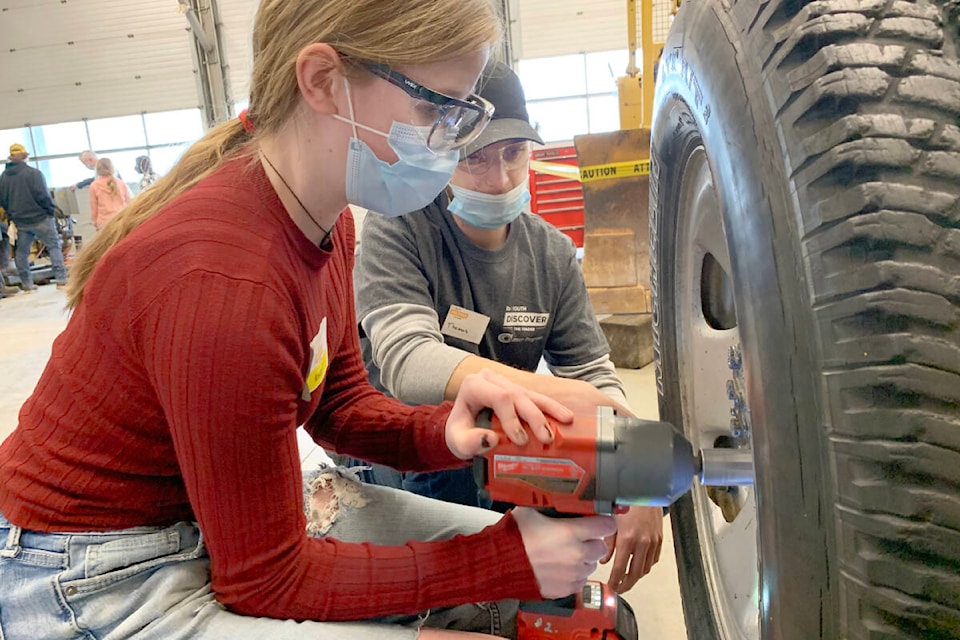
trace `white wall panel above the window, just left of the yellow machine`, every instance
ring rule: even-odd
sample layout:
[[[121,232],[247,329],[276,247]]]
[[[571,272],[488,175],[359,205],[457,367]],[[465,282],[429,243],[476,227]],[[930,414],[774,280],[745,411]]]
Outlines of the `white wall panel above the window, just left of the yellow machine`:
[[[625,0],[518,0],[514,59],[627,48]]]

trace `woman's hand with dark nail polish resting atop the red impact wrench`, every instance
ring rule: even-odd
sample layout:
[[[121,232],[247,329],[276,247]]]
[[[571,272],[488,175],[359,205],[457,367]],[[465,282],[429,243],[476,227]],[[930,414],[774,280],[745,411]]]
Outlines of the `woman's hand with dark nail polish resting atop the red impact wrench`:
[[[477,414],[488,407],[500,419],[507,437],[518,445],[529,440],[523,423],[530,426],[534,437],[549,443],[553,441],[553,433],[547,425],[548,415],[561,424],[573,420],[569,409],[541,393],[528,391],[492,371],[472,373],[463,379],[447,418],[447,447],[461,460],[469,460],[497,446],[496,433],[477,427]]]

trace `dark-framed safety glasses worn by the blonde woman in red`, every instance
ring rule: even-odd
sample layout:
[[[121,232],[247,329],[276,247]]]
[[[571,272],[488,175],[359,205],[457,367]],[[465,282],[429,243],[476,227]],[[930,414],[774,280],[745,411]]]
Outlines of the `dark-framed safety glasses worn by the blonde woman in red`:
[[[432,151],[442,153],[470,144],[493,115],[493,105],[476,94],[460,100],[428,89],[385,64],[363,62],[362,65],[417,99],[411,107],[411,121],[416,126],[430,127],[426,144]]]

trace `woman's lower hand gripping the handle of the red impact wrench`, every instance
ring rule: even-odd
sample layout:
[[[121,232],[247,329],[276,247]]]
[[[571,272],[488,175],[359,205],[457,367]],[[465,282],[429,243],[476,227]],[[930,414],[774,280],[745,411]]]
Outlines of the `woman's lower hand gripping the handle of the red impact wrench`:
[[[613,516],[548,518],[526,507],[511,513],[520,527],[540,595],[548,599],[568,596],[583,587],[607,554],[603,539],[617,529]]]

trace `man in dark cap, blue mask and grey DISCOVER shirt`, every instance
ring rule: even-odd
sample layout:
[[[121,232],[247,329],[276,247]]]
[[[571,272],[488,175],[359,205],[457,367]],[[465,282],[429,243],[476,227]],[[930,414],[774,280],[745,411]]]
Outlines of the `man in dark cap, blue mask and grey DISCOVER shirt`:
[[[530,144],[542,140],[520,81],[491,64],[480,95],[496,110],[461,153],[449,192],[406,216],[364,222],[354,284],[371,380],[405,402],[438,403],[454,398],[467,374],[491,369],[574,411],[609,404],[626,411],[576,248],[524,212]],[[554,375],[535,373],[541,357]],[[402,486],[489,506],[470,469],[405,474]],[[611,586],[626,591],[646,574],[662,538],[660,509],[618,516]]]

